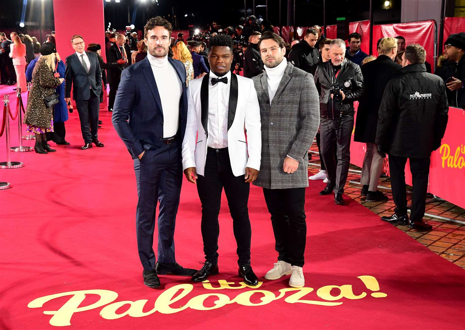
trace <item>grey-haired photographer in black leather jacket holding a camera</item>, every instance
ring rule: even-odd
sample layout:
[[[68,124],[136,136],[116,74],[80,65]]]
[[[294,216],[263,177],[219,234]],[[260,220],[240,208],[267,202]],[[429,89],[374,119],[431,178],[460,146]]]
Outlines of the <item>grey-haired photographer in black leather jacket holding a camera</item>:
[[[320,149],[329,180],[319,194],[328,195],[334,190],[334,202],[342,205],[349,172],[355,114],[353,102],[363,95],[364,85],[359,65],[345,58],[344,40],[331,41],[329,56],[331,60],[319,65],[315,72],[315,84],[320,95]],[[335,145],[337,164],[334,160]]]

